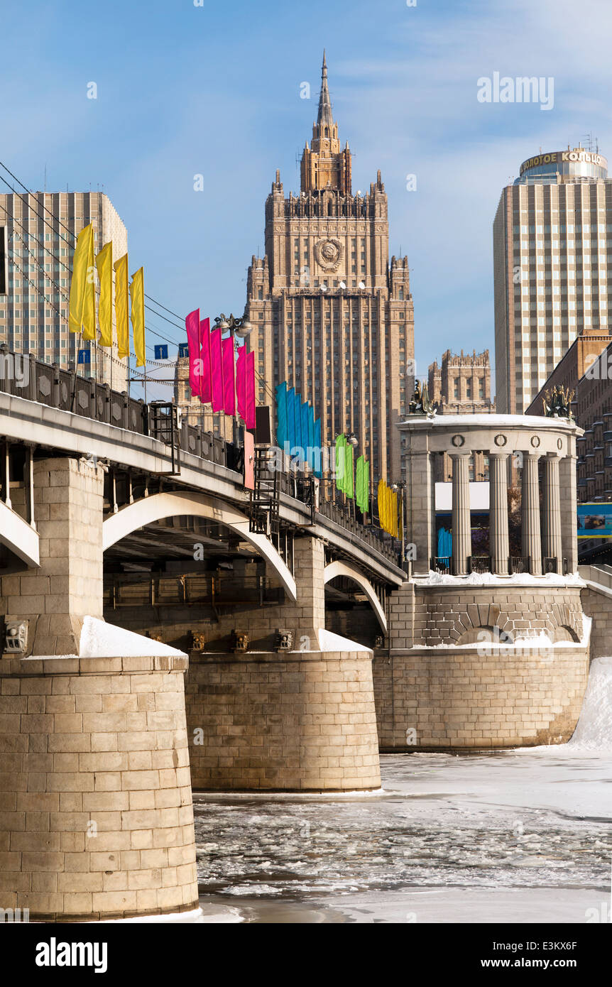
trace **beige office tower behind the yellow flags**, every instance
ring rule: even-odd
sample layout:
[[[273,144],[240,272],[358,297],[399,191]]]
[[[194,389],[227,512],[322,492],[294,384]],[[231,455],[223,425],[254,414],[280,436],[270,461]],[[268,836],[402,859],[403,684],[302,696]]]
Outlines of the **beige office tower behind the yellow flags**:
[[[125,253],[127,231],[103,192],[0,194],[0,227],[6,226],[8,240],[8,292],[0,295],[0,342],[9,349],[64,368],[76,363],[79,337],[68,331],[75,245],[70,234],[78,236],[89,223],[94,226],[96,253],[110,240],[115,260]],[[81,348],[90,355],[89,362],[79,364],[80,373],[115,390],[125,389],[125,360],[118,360],[116,344],[113,359],[110,349],[97,344],[81,342]]]

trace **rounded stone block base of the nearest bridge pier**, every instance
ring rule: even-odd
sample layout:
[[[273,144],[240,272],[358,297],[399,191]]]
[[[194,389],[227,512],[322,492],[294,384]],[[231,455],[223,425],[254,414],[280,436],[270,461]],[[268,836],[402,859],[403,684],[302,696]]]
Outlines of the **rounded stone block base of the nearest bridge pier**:
[[[181,656],[0,661],[0,907],[197,906]]]

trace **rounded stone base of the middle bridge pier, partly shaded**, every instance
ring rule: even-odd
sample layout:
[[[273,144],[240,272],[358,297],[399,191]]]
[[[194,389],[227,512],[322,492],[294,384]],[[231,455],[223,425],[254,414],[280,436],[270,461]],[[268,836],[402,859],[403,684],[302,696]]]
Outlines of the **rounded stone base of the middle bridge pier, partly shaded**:
[[[380,788],[371,651],[194,654],[194,789]]]

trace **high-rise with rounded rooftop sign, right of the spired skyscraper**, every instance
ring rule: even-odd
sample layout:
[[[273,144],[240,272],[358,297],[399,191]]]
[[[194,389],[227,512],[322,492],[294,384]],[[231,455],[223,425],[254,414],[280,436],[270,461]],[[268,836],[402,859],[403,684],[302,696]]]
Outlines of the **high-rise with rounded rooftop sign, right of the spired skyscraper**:
[[[612,180],[595,151],[538,154],[494,222],[497,412],[521,413],[584,329],[608,332]]]

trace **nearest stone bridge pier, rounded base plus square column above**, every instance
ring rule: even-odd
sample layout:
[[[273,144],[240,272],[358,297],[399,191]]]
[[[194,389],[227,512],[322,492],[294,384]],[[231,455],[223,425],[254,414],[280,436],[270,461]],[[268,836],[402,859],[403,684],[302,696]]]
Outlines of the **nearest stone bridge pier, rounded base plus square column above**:
[[[40,566],[1,580],[6,626],[29,637],[0,658],[0,908],[35,921],[197,907],[187,656],[81,647],[102,617],[103,478],[35,462]]]

